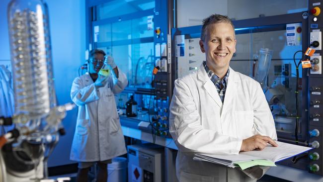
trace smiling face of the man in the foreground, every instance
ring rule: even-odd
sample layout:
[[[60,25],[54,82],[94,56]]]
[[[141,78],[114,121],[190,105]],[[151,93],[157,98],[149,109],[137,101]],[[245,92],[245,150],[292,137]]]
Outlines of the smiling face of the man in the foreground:
[[[230,23],[209,24],[204,40],[200,40],[201,51],[205,53],[210,69],[228,69],[236,52],[235,30]]]

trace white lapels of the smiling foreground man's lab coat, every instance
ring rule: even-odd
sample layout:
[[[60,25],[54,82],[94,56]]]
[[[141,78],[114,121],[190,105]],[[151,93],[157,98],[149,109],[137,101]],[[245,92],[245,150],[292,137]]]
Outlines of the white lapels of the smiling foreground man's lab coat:
[[[203,63],[200,66],[200,69],[197,71],[197,77],[201,82],[204,82],[204,88],[205,90],[209,93],[209,95],[213,98],[213,100],[219,105],[221,109],[220,113],[225,112],[226,110],[229,109],[229,107],[233,106],[232,105],[232,101],[233,101],[233,94],[234,90],[235,90],[235,83],[238,81],[236,78],[236,72],[230,68],[230,74],[229,74],[229,78],[228,78],[228,85],[227,85],[227,90],[226,90],[226,94],[224,97],[224,103],[222,103],[221,98],[217,92],[217,89],[214,85],[214,83],[212,83],[211,79],[208,77]]]

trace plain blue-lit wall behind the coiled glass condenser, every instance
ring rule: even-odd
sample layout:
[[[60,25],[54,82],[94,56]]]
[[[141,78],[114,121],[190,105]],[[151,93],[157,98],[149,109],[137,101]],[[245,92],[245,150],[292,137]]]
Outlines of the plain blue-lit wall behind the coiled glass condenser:
[[[0,60],[9,60],[6,8],[10,0],[0,2]],[[48,4],[58,104],[71,102],[70,90],[78,68],[84,62],[85,0],[44,0]],[[0,62],[1,64],[1,62]],[[69,160],[77,110],[67,113],[63,121],[66,136],[60,138],[49,158],[49,167],[74,163]]]

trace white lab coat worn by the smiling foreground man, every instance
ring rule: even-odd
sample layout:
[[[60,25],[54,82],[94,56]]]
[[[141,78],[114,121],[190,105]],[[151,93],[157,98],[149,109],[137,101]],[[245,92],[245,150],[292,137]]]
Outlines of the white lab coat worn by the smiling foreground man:
[[[258,170],[251,174],[252,179],[241,170],[192,159],[194,152],[239,154],[242,139],[255,134],[277,140],[259,83],[229,69],[224,104],[203,64],[196,73],[175,81],[169,132],[178,147],[176,175],[180,182],[244,182],[263,175]]]

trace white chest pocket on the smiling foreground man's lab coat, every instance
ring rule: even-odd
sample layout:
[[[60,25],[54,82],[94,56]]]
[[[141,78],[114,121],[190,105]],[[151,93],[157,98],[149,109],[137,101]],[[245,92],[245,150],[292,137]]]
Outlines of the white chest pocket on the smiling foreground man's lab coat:
[[[235,111],[235,118],[237,124],[238,137],[244,139],[253,136],[253,111]]]

